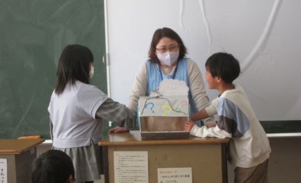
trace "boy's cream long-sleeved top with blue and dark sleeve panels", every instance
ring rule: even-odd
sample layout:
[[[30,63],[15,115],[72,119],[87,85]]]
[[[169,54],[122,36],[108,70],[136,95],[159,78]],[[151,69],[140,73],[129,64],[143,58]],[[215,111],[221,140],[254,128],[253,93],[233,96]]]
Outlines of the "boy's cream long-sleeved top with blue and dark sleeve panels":
[[[228,160],[231,165],[242,168],[257,166],[267,160],[271,153],[269,139],[260,125],[244,90],[237,84],[227,90],[205,108],[208,115],[217,114],[214,128],[192,128],[190,134],[199,137],[231,138]]]

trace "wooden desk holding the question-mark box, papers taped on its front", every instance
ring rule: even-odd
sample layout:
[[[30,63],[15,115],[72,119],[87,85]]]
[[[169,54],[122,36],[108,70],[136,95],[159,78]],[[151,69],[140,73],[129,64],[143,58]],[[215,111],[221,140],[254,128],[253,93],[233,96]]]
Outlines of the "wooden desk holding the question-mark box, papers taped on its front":
[[[157,183],[158,168],[191,167],[193,182],[228,182],[225,146],[228,138],[144,140],[140,131],[110,133],[99,141],[104,150],[106,183],[114,183],[114,151],[147,151],[149,183]]]

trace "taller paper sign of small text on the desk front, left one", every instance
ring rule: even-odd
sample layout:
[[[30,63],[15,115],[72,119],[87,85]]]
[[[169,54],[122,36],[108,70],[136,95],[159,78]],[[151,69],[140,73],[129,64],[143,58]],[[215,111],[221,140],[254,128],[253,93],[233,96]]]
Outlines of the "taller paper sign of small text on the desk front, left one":
[[[116,183],[148,182],[147,151],[114,151]]]

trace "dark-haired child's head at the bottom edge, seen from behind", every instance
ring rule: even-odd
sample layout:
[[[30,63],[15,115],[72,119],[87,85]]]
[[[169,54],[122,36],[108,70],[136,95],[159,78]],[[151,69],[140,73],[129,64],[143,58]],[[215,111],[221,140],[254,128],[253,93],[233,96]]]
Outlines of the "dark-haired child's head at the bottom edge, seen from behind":
[[[33,183],[74,182],[72,160],[63,151],[48,150],[34,159],[31,180]]]

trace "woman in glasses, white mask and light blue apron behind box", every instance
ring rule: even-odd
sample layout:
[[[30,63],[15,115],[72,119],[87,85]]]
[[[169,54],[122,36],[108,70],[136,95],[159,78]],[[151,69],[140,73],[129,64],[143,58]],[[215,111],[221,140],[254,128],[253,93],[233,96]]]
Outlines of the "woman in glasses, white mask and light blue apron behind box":
[[[195,113],[210,105],[209,98],[198,65],[185,57],[186,47],[180,36],[170,28],[157,29],[148,51],[149,59],[140,67],[129,97],[128,108],[136,110],[140,96],[157,91],[165,78],[183,80],[189,87],[191,112]],[[203,120],[208,127],[216,125],[212,117]],[[196,121],[201,126],[200,121]],[[116,127],[109,132],[123,132],[126,128]]]

